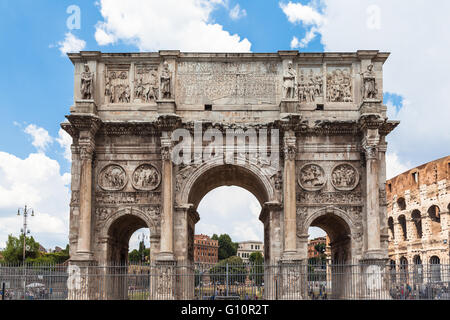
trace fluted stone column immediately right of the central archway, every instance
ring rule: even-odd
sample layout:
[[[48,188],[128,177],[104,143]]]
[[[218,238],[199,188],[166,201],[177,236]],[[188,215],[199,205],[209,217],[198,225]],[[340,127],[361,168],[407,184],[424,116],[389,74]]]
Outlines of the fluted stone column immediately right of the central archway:
[[[297,222],[295,199],[295,156],[297,146],[295,133],[292,130],[284,133],[284,172],[283,172],[283,202],[284,202],[284,253],[283,257],[297,253]]]

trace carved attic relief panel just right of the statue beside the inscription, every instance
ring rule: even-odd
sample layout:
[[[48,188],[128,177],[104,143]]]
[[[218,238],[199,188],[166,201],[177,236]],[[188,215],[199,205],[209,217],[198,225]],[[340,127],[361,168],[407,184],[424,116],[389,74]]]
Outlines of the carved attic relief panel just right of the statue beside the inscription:
[[[323,102],[321,68],[301,68],[298,80],[298,99],[302,103]]]

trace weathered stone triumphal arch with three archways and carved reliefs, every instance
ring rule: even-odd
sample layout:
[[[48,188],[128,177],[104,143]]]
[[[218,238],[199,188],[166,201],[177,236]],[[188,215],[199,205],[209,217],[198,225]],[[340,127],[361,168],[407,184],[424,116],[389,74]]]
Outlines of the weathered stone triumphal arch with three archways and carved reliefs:
[[[265,285],[278,298],[302,298],[291,266],[307,258],[310,226],[327,232],[332,259],[382,268],[386,136],[398,125],[382,103],[388,56],[69,54],[71,265],[126,261],[130,236],[148,227],[155,298],[189,298],[189,286],[171,290],[171,268],[193,262],[202,197],[236,185],[261,204],[265,261],[281,270]]]

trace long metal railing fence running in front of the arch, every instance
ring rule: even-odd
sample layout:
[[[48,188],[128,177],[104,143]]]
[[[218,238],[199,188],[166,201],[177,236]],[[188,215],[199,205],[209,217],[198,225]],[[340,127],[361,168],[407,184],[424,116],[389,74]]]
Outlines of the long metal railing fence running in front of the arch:
[[[0,300],[450,300],[450,265],[0,264]]]

